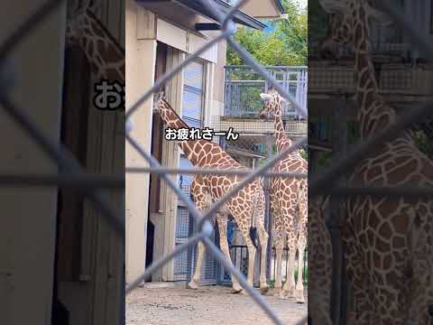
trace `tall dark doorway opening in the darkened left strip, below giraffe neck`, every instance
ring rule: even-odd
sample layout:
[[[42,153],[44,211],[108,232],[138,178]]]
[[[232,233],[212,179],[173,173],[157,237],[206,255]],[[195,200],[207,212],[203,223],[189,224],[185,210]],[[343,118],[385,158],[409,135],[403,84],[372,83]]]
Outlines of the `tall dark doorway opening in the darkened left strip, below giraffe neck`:
[[[78,47],[65,50],[65,77],[61,112],[60,141],[78,162],[86,166],[88,150],[88,88],[90,69]],[[54,261],[54,288],[51,322],[69,325],[68,307],[60,301],[61,282],[79,282],[82,259],[84,195],[77,190],[58,192],[57,230]]]

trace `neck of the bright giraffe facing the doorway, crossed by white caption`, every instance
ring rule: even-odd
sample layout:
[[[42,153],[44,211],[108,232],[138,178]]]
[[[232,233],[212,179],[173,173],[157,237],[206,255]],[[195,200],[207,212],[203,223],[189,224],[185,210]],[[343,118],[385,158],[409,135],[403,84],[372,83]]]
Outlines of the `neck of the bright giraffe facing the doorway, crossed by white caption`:
[[[157,109],[162,121],[167,127],[172,129],[189,129],[189,125],[180,118],[178,113],[176,113],[164,99],[161,99],[160,104],[157,105]],[[207,156],[207,152],[202,151],[205,144],[207,144],[207,146],[210,145],[213,154],[224,153],[219,145],[206,140],[184,140],[178,141],[177,144],[180,146],[180,149],[182,149],[182,152],[185,153],[189,162],[194,166],[200,165],[200,163],[205,160],[204,158]],[[218,148],[219,151],[217,150]],[[208,151],[210,152],[210,150]]]

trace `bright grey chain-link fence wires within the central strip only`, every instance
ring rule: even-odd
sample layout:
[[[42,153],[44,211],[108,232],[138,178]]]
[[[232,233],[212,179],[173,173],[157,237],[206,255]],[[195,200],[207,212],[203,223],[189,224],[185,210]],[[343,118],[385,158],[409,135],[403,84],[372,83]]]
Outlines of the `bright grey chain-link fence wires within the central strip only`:
[[[152,93],[156,92],[170,78],[172,78],[175,74],[179,73],[185,66],[187,66],[187,64],[189,64],[189,62],[191,60],[194,60],[194,58],[196,58],[199,53],[206,51],[208,48],[210,48],[216,42],[219,42],[221,40],[226,40],[256,72],[260,73],[263,76],[263,79],[268,81],[274,88],[276,88],[284,98],[290,99],[290,102],[293,103],[293,107],[295,107],[299,116],[302,116],[304,118],[307,117],[307,112],[306,112],[305,108],[299,107],[299,104],[297,103],[295,98],[293,98],[293,96],[288,94],[285,91],[285,89],[281,87],[281,83],[278,82],[276,79],[272,78],[272,76],[269,75],[269,73],[267,73],[267,71],[260,64],[258,64],[256,62],[256,60],[254,60],[249,55],[249,53],[244,51],[244,49],[231,38],[231,35],[233,34],[233,32],[235,32],[235,23],[232,21],[233,15],[235,14],[235,12],[238,10],[238,8],[241,5],[244,5],[244,3],[246,1],[238,2],[236,5],[234,5],[234,7],[227,14],[220,13],[218,11],[215,3],[213,3],[212,1],[200,1],[200,2],[203,5],[206,5],[207,8],[212,10],[215,14],[217,14],[219,23],[221,23],[221,25],[222,25],[222,32],[220,33],[219,36],[214,38],[212,41],[207,42],[203,47],[201,47],[198,51],[196,51],[196,53],[194,53],[193,55],[190,55],[188,57],[188,59],[182,61],[182,63],[178,67],[176,67],[175,69],[166,73],[165,75],[161,76],[160,79],[156,80],[153,87],[151,89],[147,90],[145,92],[145,94],[143,95],[143,97],[140,98],[132,107],[130,107],[126,113],[126,139],[129,142],[129,144],[131,144],[140,154],[142,154],[143,158],[150,164],[151,168],[149,168],[147,172],[160,173],[161,172],[161,165],[154,159],[154,157],[152,157],[151,154],[147,153],[143,149],[143,147],[134,140],[134,138],[131,135],[129,135],[129,132],[134,127],[134,125],[132,125],[132,123],[130,122],[131,120],[129,119],[129,117],[131,117],[134,114],[134,112],[138,109],[138,107],[140,107],[140,105],[146,99],[148,99],[152,96]],[[255,302],[257,302],[263,308],[263,311],[265,311],[267,313],[267,315],[276,324],[282,324],[280,318],[278,317],[278,315],[275,314],[274,311],[272,311],[272,308],[269,306],[269,304],[265,300],[263,300],[263,298],[260,296],[260,294],[258,292],[256,292],[253,289],[253,287],[251,287],[246,282],[244,275],[241,274],[241,272],[239,272],[239,270],[234,265],[232,265],[232,263],[230,261],[228,261],[226,259],[225,255],[223,255],[222,252],[217,248],[217,246],[214,245],[213,241],[211,241],[209,239],[209,236],[213,232],[213,228],[212,228],[211,224],[209,223],[209,219],[212,218],[212,216],[217,212],[217,209],[221,208],[226,203],[227,200],[229,200],[230,198],[232,198],[235,195],[235,193],[238,190],[243,189],[246,184],[248,184],[249,182],[256,179],[257,176],[264,175],[270,168],[272,168],[272,165],[274,163],[281,160],[281,158],[283,158],[287,153],[290,153],[292,150],[297,149],[300,145],[305,145],[305,144],[307,144],[307,138],[301,139],[297,143],[295,143],[292,146],[290,146],[289,148],[287,148],[284,152],[279,153],[274,158],[272,158],[269,162],[265,163],[262,167],[254,169],[253,172],[248,172],[247,174],[245,174],[243,181],[240,181],[239,183],[237,183],[232,190],[230,190],[228,193],[226,193],[226,195],[224,195],[220,200],[217,200],[217,202],[215,202],[210,207],[210,209],[208,209],[207,212],[204,213],[203,215],[198,211],[198,209],[195,207],[194,203],[189,199],[189,197],[187,197],[179,189],[177,184],[175,184],[170,179],[168,174],[161,172],[161,177],[167,182],[170,189],[176,192],[179,199],[182,200],[184,202],[185,206],[189,209],[190,215],[193,218],[195,218],[195,220],[198,224],[198,227],[197,227],[198,231],[195,234],[193,234],[191,237],[189,237],[189,239],[184,244],[177,246],[170,253],[170,255],[164,256],[161,260],[154,262],[151,266],[149,266],[147,268],[147,270],[145,271],[145,273],[143,274],[143,276],[140,276],[139,278],[137,278],[135,281],[133,281],[132,283],[130,283],[127,286],[126,293],[131,292],[136,285],[138,285],[139,283],[141,283],[143,281],[143,278],[147,277],[149,274],[152,274],[152,272],[154,272],[156,269],[158,269],[162,265],[165,265],[166,263],[168,263],[170,261],[170,259],[172,259],[174,256],[179,255],[184,251],[187,251],[190,246],[196,245],[198,243],[198,241],[202,241],[203,244],[207,247],[207,251],[210,252],[212,255],[214,255],[214,257],[217,259],[217,261],[220,262],[221,265],[223,265],[223,267],[227,271],[229,271],[231,274],[233,274],[233,276],[235,276],[235,278],[239,281],[239,283],[244,287],[244,290],[246,292],[248,292],[251,295],[251,297],[253,298],[253,300]],[[203,170],[203,169],[201,169],[199,171],[195,170],[192,172],[196,172],[196,171],[199,173],[209,173],[209,174],[216,174],[216,173],[227,174],[228,173],[227,171],[215,171],[215,170],[212,171],[212,170]],[[127,169],[126,169],[126,172],[128,172]],[[180,172],[180,170],[172,171],[172,172]],[[189,172],[191,172],[191,171],[189,171]],[[184,172],[182,172],[182,173],[184,173]],[[303,177],[306,177],[306,175],[303,175]],[[306,322],[306,320],[299,320],[299,321],[300,321],[300,323]]]

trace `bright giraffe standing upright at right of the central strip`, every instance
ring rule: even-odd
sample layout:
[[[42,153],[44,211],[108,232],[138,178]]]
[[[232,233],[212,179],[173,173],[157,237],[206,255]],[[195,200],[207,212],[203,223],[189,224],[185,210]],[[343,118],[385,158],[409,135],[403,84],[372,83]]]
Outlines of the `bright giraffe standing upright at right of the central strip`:
[[[260,117],[271,116],[275,118],[275,138],[279,152],[290,146],[292,141],[285,134],[281,119],[282,98],[274,89],[267,94],[261,94],[264,100]],[[290,153],[274,166],[274,172],[308,172],[308,163],[302,158],[299,151]],[[275,177],[271,181],[271,208],[274,214],[274,242],[276,250],[277,274],[275,275],[275,294],[280,296],[295,296],[297,302],[303,303],[304,286],[302,279],[304,251],[307,246],[307,209],[308,184],[307,180],[294,177]],[[288,241],[289,266],[286,283],[281,292],[281,255],[284,242]],[[294,265],[298,248],[298,283],[295,284]]]

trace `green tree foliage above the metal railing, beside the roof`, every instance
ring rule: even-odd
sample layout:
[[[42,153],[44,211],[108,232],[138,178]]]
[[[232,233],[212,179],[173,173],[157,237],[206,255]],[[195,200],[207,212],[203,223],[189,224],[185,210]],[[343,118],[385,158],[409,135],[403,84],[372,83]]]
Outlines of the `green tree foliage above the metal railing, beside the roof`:
[[[266,22],[273,32],[261,32],[241,27],[234,38],[263,65],[306,65],[308,55],[308,16],[294,0],[281,1],[288,14],[287,19]],[[242,65],[244,60],[230,46],[227,48],[227,64]]]

